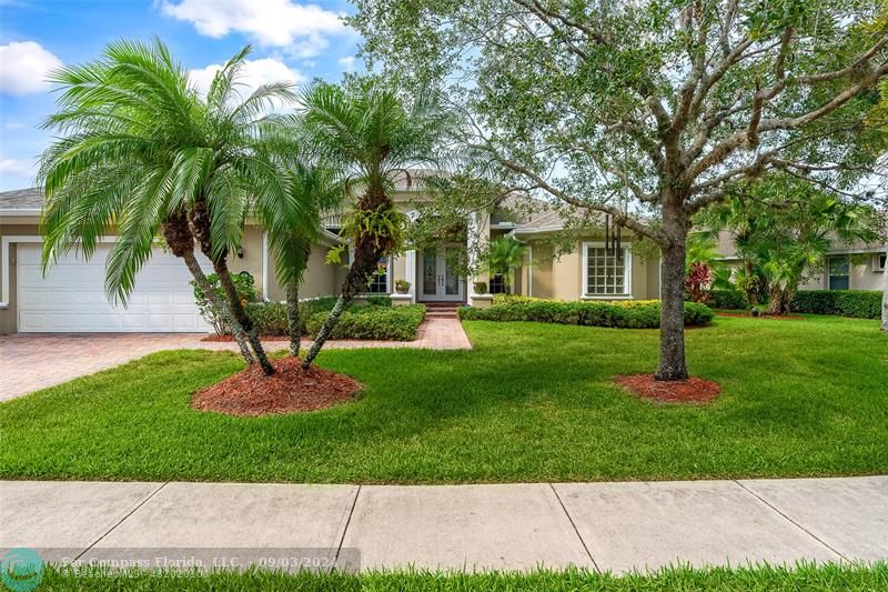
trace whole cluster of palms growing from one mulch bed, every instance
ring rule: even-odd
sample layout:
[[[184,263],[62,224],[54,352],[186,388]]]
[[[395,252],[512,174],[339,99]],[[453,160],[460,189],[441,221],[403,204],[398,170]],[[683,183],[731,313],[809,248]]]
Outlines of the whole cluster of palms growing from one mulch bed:
[[[347,88],[287,82],[242,94],[244,48],[204,94],[159,40],[118,41],[100,59],[52,74],[58,111],[44,123],[58,138],[39,180],[44,270],[77,247],[89,258],[109,230],[118,234],[105,288],[125,304],[139,270],[162,238],[213,300],[248,363],[274,368],[248,317],[228,267],[249,217],[269,235],[285,287],[291,353],[299,355],[299,287],[321,217],[361,188],[344,229],[353,261],[342,298],[303,363],[316,355],[349,301],[366,287],[382,255],[401,248],[403,223],[390,198],[393,177],[434,153],[447,122],[433,94],[407,102],[391,84],[354,79]],[[300,102],[294,113],[275,107]],[[224,294],[206,280],[212,263]]]

